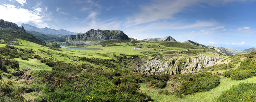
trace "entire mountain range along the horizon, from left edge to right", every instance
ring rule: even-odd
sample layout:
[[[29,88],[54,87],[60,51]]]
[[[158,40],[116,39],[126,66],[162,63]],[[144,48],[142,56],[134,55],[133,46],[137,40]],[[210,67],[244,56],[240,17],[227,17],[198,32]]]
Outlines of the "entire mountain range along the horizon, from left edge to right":
[[[118,30],[102,31],[102,30],[91,29],[84,34],[79,34],[79,33],[66,31],[64,29],[55,30],[55,29],[46,28],[46,27],[45,28],[37,28],[35,26],[31,26],[29,24],[24,24],[24,23],[21,24],[21,27],[18,27],[15,23],[0,20],[0,31],[2,32],[2,34],[1,34],[2,38],[4,38],[4,36],[6,36],[4,33],[4,31],[6,31],[6,30],[14,31],[13,34],[8,35],[8,36],[13,36],[13,37],[9,37],[9,38],[12,38],[12,39],[19,38],[21,40],[36,42],[41,45],[44,45],[43,44],[44,42],[42,42],[42,40],[49,40],[50,42],[65,41],[64,36],[57,38],[57,36],[60,36],[60,35],[66,35],[66,37],[67,37],[66,43],[70,43],[72,45],[97,44],[101,40],[112,40],[112,39],[136,40],[134,38],[129,38],[126,34],[123,33],[123,31],[118,31]],[[16,35],[20,35],[20,36],[16,37],[16,35],[14,35],[14,33],[16,33]],[[33,34],[37,38],[31,34]],[[48,36],[55,36],[55,37],[48,37]],[[41,41],[39,39],[41,39]],[[164,38],[148,38],[148,39],[144,39],[143,41],[149,41],[149,42],[175,41],[175,42],[177,42],[171,36],[166,36]],[[197,42],[193,42],[191,40],[187,40],[182,43],[189,44],[189,45],[195,45],[195,46],[199,46],[199,47],[204,47],[204,48],[209,48],[209,49],[218,51],[220,53],[223,53],[227,56],[241,54],[241,53],[256,52],[256,48],[249,48],[249,49],[245,49],[243,51],[239,51],[237,49],[232,49],[232,48],[223,48],[223,47],[217,47],[217,46],[202,45]]]

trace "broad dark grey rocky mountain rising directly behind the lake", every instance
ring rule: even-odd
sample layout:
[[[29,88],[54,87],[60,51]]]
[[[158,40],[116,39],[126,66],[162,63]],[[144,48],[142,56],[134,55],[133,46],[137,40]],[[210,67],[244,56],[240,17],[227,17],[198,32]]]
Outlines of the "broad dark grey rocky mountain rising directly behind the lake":
[[[68,42],[71,42],[73,40],[82,40],[82,41],[96,41],[96,40],[111,40],[111,39],[117,39],[117,40],[130,40],[130,38],[123,33],[123,31],[101,31],[101,30],[94,30],[91,29],[90,31],[87,31],[84,34],[77,34],[77,35],[69,35],[67,38]]]

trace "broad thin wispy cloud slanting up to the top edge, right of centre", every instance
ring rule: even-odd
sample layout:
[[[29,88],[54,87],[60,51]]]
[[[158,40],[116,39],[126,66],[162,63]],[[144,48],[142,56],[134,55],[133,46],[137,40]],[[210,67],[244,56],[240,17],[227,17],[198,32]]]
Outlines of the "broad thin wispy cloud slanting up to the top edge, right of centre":
[[[173,14],[181,12],[182,8],[196,3],[197,0],[157,0],[156,3],[141,6],[138,14],[128,18],[124,26],[135,26],[161,19],[171,19]]]

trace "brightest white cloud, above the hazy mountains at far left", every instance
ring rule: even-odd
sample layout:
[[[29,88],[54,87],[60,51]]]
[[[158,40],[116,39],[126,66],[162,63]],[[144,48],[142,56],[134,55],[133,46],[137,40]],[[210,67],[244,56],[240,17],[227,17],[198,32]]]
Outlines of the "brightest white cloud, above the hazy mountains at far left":
[[[36,9],[36,11],[40,11],[41,9]],[[16,23],[17,25],[21,25],[21,23],[34,23],[37,27],[48,27],[46,23],[42,21],[42,17],[35,11],[30,11],[24,8],[16,8],[13,5],[0,5],[0,18],[9,22]]]

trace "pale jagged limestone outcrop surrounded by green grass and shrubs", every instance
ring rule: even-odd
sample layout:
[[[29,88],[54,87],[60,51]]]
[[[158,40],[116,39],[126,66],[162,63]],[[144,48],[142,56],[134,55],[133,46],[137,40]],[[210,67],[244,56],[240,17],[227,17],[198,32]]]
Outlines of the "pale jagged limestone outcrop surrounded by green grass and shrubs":
[[[136,72],[145,74],[185,74],[202,70],[203,68],[214,65],[222,57],[186,57],[180,59],[172,59],[171,61],[163,61],[162,59],[152,59],[136,69]]]

